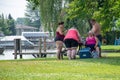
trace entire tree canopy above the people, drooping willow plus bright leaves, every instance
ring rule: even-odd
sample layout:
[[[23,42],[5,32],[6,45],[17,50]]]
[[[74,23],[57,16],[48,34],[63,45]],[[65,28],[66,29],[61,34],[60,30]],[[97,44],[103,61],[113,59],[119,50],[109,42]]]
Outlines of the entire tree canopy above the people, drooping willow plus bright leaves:
[[[120,0],[28,0],[38,7],[45,29],[57,27],[64,21],[66,29],[76,26],[81,33],[89,28],[88,20],[96,19],[102,26],[102,33],[111,31],[120,18]],[[119,21],[119,20],[118,20]],[[118,23],[117,23],[118,24]]]

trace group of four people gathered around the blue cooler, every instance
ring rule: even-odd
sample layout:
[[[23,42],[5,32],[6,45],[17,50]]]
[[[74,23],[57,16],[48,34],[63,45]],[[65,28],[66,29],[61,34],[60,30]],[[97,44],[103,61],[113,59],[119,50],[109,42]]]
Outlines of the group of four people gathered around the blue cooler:
[[[90,47],[92,50],[98,51],[99,57],[101,57],[100,42],[102,37],[100,33],[100,25],[94,19],[90,20],[90,24],[92,25],[92,29],[88,32],[85,46]],[[82,43],[81,35],[75,27],[72,27],[64,32],[64,22],[60,22],[58,25],[59,26],[56,30],[55,37],[57,59],[63,59],[63,54],[61,51],[64,44],[67,49],[68,59],[75,59],[78,45]]]

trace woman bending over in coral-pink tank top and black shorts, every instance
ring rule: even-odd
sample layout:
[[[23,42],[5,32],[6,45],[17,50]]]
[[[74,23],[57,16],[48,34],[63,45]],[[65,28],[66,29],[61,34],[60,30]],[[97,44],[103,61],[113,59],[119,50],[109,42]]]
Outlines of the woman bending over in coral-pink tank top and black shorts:
[[[81,43],[81,37],[78,30],[74,27],[70,28],[64,38],[64,43],[67,49],[68,58],[75,59],[77,47]]]

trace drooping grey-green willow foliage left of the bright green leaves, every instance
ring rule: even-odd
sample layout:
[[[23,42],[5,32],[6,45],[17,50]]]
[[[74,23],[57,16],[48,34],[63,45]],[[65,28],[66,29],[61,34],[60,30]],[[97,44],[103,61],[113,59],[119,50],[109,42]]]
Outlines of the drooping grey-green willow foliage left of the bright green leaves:
[[[45,30],[55,31],[59,21],[62,21],[62,4],[66,0],[28,0],[34,3],[34,8],[38,8],[42,25]]]

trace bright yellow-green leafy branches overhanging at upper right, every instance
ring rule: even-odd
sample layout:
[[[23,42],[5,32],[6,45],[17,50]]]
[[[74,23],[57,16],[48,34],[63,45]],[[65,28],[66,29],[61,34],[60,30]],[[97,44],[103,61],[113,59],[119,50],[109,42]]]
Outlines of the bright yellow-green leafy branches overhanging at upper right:
[[[67,14],[72,20],[81,19],[87,22],[95,18],[101,24],[104,35],[114,27],[114,20],[119,19],[119,5],[120,0],[74,0],[69,4]]]

